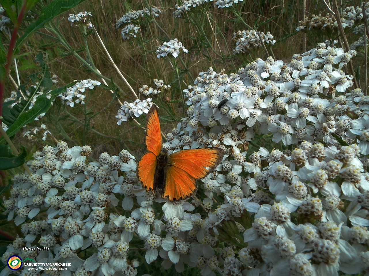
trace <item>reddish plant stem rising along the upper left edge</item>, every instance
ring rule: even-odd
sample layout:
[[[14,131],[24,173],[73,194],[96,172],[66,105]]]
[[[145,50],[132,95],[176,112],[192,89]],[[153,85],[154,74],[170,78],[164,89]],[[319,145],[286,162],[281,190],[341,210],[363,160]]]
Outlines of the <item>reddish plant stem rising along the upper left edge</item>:
[[[11,66],[11,62],[13,61],[13,52],[14,52],[14,46],[15,42],[17,41],[17,35],[18,31],[21,25],[21,22],[24,18],[25,12],[27,7],[27,0],[24,0],[23,6],[19,12],[18,15],[18,23],[14,25],[13,33],[11,34],[10,42],[9,42],[9,48],[8,48],[8,54],[6,56],[6,64],[5,64],[5,75],[3,78],[0,79],[0,116],[3,114],[3,97],[4,97],[4,90],[5,90],[5,76],[8,74],[9,68]],[[0,124],[1,124],[1,118],[0,118]]]

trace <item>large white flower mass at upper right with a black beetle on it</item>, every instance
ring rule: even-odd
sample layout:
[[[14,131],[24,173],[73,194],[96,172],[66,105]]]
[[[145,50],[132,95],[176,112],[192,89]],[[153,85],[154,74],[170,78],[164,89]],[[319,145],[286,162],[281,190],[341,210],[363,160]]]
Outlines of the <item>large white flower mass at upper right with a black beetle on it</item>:
[[[345,93],[352,76],[341,70],[355,55],[319,43],[288,64],[257,59],[230,76],[210,68],[184,91],[187,105],[193,104],[187,120],[215,127],[240,117],[251,132],[258,121],[261,133],[272,132],[273,142],[284,145],[303,140],[336,145],[337,135],[351,144],[357,138],[367,154],[368,99],[360,89]]]

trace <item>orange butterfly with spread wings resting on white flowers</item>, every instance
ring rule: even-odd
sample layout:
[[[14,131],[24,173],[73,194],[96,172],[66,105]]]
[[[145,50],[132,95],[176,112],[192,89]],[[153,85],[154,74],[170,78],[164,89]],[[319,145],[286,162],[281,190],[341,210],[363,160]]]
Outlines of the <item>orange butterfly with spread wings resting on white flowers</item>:
[[[206,177],[223,159],[220,148],[184,149],[168,155],[162,151],[158,109],[146,117],[146,152],[138,161],[137,175],[147,191],[159,190],[163,198],[179,201],[196,194],[196,179]]]

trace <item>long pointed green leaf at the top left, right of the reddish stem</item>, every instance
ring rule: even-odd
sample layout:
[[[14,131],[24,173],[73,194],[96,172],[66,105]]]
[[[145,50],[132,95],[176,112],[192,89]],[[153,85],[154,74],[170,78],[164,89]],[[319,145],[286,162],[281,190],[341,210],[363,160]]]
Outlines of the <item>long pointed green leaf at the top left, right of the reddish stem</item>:
[[[27,26],[24,35],[18,38],[14,52],[15,53],[17,52],[17,49],[24,43],[24,41],[28,38],[28,36],[32,35],[32,33],[37,31],[38,29],[44,27],[45,23],[51,21],[59,14],[62,14],[65,11],[74,8],[75,6],[84,1],[86,0],[54,0],[51,3],[49,3],[46,7],[44,7],[41,10],[40,16],[37,18],[37,20]]]

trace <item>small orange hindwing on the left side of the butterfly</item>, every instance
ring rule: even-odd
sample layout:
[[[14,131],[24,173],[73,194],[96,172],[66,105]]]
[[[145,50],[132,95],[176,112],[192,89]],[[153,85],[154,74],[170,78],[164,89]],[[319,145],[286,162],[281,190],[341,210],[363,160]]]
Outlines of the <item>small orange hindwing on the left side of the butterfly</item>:
[[[154,176],[157,166],[156,156],[152,152],[146,152],[138,161],[137,176],[146,190],[155,192]]]

